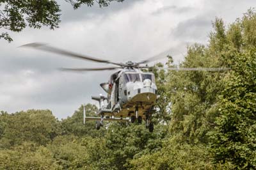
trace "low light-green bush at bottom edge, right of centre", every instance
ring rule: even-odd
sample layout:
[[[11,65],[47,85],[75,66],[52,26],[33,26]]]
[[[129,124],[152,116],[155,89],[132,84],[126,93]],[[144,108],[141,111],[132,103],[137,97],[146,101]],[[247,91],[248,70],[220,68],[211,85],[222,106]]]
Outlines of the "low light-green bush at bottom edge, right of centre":
[[[131,169],[223,169],[211,164],[211,155],[203,145],[179,143],[173,136],[163,149],[131,161]]]

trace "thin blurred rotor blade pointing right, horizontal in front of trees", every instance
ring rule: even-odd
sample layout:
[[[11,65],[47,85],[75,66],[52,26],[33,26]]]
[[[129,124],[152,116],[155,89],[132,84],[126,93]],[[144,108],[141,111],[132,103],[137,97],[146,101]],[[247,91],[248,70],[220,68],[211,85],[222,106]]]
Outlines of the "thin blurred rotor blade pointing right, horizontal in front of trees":
[[[231,70],[230,68],[185,68],[185,67],[179,67],[179,68],[162,68],[162,67],[147,67],[143,66],[140,68],[156,68],[157,70],[173,70],[173,71],[204,71],[204,72],[221,72],[221,71],[227,71]]]

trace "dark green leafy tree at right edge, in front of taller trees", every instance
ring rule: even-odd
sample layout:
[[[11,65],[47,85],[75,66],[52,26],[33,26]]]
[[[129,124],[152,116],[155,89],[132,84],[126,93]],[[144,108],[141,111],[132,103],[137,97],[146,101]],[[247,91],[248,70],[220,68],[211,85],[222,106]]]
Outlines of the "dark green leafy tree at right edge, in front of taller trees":
[[[255,49],[237,56],[220,99],[221,115],[211,134],[216,161],[232,162],[237,169],[256,168]]]

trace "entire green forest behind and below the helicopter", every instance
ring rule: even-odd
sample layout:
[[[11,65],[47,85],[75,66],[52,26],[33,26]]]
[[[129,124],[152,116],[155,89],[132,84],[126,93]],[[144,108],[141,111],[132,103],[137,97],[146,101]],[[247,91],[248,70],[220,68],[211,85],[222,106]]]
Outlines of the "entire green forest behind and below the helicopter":
[[[83,125],[82,105],[65,120],[49,110],[2,111],[0,169],[256,169],[256,13],[212,27],[209,42],[189,45],[179,66],[231,70],[153,68],[154,132],[111,122],[95,130],[95,122]],[[172,56],[165,64],[177,66]],[[87,115],[95,111],[86,105]]]

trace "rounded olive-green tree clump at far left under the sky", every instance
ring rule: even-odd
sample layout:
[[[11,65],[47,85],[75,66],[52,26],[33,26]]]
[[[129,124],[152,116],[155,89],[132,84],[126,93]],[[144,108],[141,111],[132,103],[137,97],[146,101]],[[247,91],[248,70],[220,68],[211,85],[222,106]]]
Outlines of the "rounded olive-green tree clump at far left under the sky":
[[[2,113],[0,127],[0,148],[9,148],[25,141],[45,146],[60,134],[60,123],[49,110]]]

